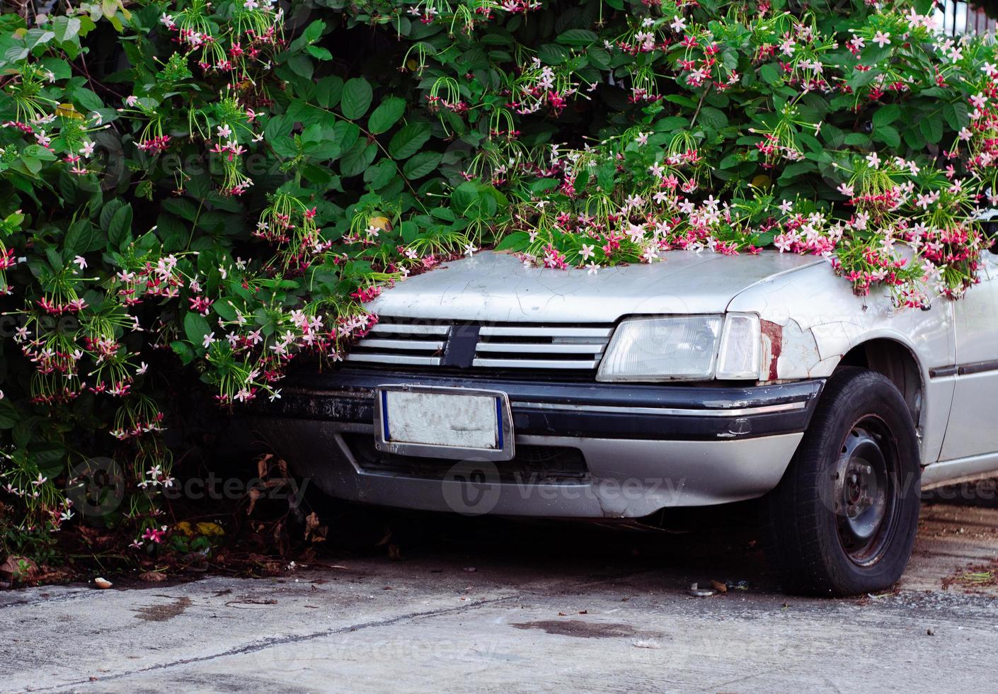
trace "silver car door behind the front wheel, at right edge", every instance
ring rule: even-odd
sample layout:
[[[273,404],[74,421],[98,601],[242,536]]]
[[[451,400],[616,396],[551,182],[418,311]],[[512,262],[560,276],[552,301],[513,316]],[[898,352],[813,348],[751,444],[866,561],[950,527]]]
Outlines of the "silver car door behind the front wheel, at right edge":
[[[984,253],[981,282],[953,315],[956,385],[942,460],[998,451],[998,256]]]

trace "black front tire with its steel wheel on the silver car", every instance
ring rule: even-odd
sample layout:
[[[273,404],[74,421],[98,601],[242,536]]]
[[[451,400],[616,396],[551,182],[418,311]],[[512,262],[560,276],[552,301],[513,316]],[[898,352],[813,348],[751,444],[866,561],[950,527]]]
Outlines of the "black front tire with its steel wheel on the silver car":
[[[765,504],[783,589],[846,596],[893,585],[915,541],[920,472],[918,437],[894,384],[863,368],[835,371]]]

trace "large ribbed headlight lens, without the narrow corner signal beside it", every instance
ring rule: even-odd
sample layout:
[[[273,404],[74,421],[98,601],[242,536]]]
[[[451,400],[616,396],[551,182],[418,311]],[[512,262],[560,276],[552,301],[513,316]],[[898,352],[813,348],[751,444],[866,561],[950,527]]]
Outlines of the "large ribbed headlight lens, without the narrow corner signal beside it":
[[[720,316],[629,319],[614,331],[599,380],[710,378],[721,337]]]

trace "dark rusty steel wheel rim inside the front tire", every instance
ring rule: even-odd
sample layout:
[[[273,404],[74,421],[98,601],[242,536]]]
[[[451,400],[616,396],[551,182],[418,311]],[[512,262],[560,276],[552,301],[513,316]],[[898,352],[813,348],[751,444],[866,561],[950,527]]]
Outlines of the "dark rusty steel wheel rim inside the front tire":
[[[899,506],[897,444],[875,416],[856,421],[835,463],[832,504],[838,541],[849,560],[875,564],[890,545]]]

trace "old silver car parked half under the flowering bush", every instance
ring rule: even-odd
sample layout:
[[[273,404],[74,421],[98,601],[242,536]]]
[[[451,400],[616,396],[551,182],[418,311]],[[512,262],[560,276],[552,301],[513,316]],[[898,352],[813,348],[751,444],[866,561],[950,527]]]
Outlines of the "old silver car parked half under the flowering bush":
[[[595,275],[481,253],[381,295],[258,428],[372,504],[635,519],[765,497],[786,590],[868,592],[901,575],[920,489],[998,469],[995,259],[917,310],[776,252]]]

